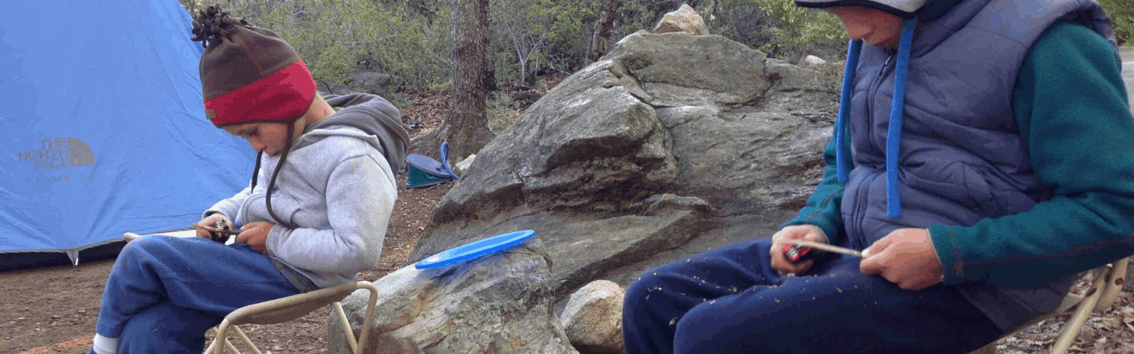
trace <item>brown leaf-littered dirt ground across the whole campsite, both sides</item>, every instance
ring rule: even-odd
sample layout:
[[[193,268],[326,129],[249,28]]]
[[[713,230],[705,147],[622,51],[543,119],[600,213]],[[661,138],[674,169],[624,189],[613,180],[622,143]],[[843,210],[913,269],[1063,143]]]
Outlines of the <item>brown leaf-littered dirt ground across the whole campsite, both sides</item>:
[[[403,109],[404,120],[415,127],[411,132],[413,136],[424,134],[443,120],[448,102],[445,93],[414,92],[407,94],[407,101]],[[399,199],[379,266],[363,272],[359,279],[375,280],[407,266],[406,258],[421,237],[433,208],[451,186],[406,189],[405,176],[399,177],[398,185]],[[3,292],[0,296],[0,354],[86,353],[94,334],[102,288],[112,264],[113,260],[103,260],[79,267],[0,272],[0,290]],[[1080,281],[1076,292],[1085,288],[1086,283]],[[329,309],[322,309],[288,323],[245,326],[244,329],[265,354],[325,353],[329,351],[328,313]],[[1057,317],[1001,338],[996,353],[1047,353],[1068,317]],[[212,334],[206,337],[211,340]],[[1134,354],[1134,296],[1123,293],[1110,310],[1095,312],[1070,353]]]

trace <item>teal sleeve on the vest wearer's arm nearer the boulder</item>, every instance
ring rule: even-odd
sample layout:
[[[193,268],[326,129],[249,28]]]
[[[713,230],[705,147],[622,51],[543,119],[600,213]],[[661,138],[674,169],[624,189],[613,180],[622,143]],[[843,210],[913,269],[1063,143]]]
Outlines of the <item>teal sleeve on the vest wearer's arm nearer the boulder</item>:
[[[832,130],[835,128],[831,128]],[[843,189],[846,187],[845,183],[839,182],[839,174],[835,161],[835,134],[832,134],[831,141],[827,143],[827,148],[823,149],[823,162],[827,162],[827,167],[823,168],[823,180],[815,186],[815,192],[811,194],[807,199],[807,205],[799,210],[799,216],[785,222],[782,226],[789,225],[814,225],[823,229],[827,234],[828,243],[837,245],[843,242],[846,237],[843,229],[843,212],[839,210],[839,205],[843,203]],[[850,155],[850,129],[843,129],[843,150],[845,157]],[[854,169],[854,162],[852,159],[847,159],[847,170]],[[781,228],[782,228],[781,226]]]

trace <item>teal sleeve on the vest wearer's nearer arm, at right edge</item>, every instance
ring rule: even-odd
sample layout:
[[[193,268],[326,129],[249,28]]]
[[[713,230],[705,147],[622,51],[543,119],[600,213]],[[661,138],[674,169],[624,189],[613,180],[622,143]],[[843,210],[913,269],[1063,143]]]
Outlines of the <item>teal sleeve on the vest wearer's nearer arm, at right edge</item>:
[[[1032,47],[1014,112],[1056,195],[972,227],[930,226],[945,284],[1034,286],[1134,254],[1134,117],[1119,66],[1081,25],[1056,24]]]

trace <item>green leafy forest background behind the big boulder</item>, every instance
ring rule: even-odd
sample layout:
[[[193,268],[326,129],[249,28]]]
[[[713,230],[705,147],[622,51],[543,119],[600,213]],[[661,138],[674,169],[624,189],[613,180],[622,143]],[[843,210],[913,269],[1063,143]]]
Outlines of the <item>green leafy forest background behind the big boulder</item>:
[[[179,0],[191,14],[208,0]],[[488,6],[489,42],[484,64],[488,118],[518,116],[514,94],[501,88],[550,90],[535,77],[572,74],[591,62],[601,9],[612,7],[608,43],[640,30],[653,30],[683,3],[700,14],[711,34],[797,64],[814,54],[829,61],[846,56],[846,34],[838,18],[796,7],[790,0],[217,0],[252,24],[272,30],[291,43],[320,87],[350,84],[352,74],[390,75],[383,95],[395,104],[406,91],[446,91],[452,85],[454,28],[450,9],[469,2]],[[1116,24],[1119,45],[1134,36],[1134,1],[1100,1]],[[612,47],[610,44],[609,47]],[[593,54],[592,54],[593,56]],[[593,57],[592,57],[593,58]],[[841,71],[840,67],[831,68]],[[530,102],[528,102],[530,103]],[[511,110],[508,112],[501,112]],[[496,116],[497,121],[492,121]]]

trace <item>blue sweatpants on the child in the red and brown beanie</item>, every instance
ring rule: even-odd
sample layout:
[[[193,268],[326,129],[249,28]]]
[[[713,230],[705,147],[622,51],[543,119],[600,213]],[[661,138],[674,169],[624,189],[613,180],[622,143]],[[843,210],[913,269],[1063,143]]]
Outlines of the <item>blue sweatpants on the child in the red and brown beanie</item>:
[[[232,310],[298,293],[246,244],[146,236],[118,254],[95,331],[118,337],[121,354],[201,353]]]

